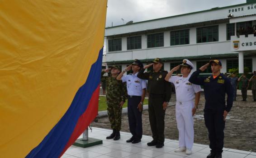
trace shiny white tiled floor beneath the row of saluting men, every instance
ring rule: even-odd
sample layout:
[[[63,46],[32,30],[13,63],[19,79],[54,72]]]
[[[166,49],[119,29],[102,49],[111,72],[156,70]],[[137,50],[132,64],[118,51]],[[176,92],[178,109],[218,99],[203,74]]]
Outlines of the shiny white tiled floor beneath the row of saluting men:
[[[130,133],[121,132],[121,139],[105,139],[112,131],[93,127],[90,138],[103,140],[103,144],[89,148],[71,146],[62,155],[62,158],[206,158],[210,149],[208,145],[194,144],[191,155],[185,152],[175,153],[178,142],[172,139],[165,140],[165,146],[161,149],[147,146],[147,142],[152,138],[147,135],[142,136],[142,141],[137,144],[126,143],[126,139],[131,137]],[[224,148],[223,158],[256,158],[256,153]]]

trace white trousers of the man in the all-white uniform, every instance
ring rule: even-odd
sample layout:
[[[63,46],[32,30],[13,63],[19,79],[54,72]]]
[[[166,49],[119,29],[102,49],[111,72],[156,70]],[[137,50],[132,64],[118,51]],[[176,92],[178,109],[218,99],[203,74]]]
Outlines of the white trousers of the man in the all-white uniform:
[[[194,102],[176,102],[176,121],[179,130],[179,145],[192,149],[194,144],[194,120],[192,109]]]

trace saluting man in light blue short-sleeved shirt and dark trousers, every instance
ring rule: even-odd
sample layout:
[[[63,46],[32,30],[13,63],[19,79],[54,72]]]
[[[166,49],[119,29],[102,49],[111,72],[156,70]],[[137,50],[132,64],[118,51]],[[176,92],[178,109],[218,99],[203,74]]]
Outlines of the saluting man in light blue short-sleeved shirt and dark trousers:
[[[125,72],[133,70],[133,74],[123,76]],[[126,82],[128,93],[128,121],[132,138],[126,140],[127,143],[133,144],[139,143],[142,138],[142,106],[146,94],[145,79],[139,79],[137,74],[140,69],[143,68],[143,64],[140,60],[135,59],[132,65],[129,65],[123,70],[117,77],[117,79]]]

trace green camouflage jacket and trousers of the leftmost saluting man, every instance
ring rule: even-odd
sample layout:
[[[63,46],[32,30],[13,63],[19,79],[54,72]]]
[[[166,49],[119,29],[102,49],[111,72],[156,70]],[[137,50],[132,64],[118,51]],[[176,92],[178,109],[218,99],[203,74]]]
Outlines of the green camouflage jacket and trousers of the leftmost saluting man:
[[[105,72],[102,71],[101,76]],[[121,119],[122,119],[122,107],[119,103],[121,101],[125,102],[127,95],[126,85],[122,83],[121,80],[117,80],[112,76],[105,78],[106,80],[106,101],[108,105],[108,116],[111,123],[111,128],[114,130],[121,129]]]

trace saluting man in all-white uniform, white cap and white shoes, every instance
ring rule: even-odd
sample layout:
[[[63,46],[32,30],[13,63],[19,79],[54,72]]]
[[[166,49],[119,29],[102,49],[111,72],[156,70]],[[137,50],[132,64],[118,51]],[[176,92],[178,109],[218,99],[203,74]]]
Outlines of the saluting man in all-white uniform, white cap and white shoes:
[[[181,68],[181,69],[180,69]],[[171,76],[180,69],[182,76]],[[165,80],[174,84],[176,92],[176,121],[179,130],[179,148],[175,152],[186,151],[192,153],[194,144],[194,120],[193,116],[197,109],[201,87],[189,82],[190,72],[194,65],[190,60],[184,59],[183,63],[174,67]],[[195,98],[195,102],[194,102]]]

